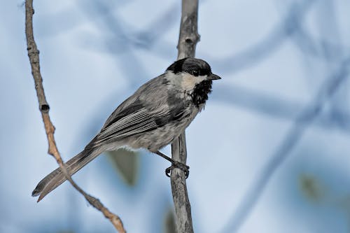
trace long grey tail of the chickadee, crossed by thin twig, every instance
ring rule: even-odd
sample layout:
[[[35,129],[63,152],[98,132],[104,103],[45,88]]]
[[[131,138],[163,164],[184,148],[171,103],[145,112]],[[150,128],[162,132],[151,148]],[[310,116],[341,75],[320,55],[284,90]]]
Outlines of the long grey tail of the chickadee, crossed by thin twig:
[[[98,149],[86,149],[82,152],[78,153],[78,155],[74,156],[66,162],[66,169],[69,171],[69,174],[73,175],[77,171],[79,171],[82,167],[84,167],[87,163],[91,162],[95,157],[97,157],[100,153],[102,153],[101,150]],[[38,195],[38,202],[40,202],[43,197],[48,195],[49,192],[57,188],[59,185],[61,185],[64,181],[66,181],[66,177],[62,173],[60,168],[57,168],[55,171],[52,171],[48,176],[45,176],[38,185],[36,185],[36,188],[33,192],[31,192],[31,196],[36,197]]]

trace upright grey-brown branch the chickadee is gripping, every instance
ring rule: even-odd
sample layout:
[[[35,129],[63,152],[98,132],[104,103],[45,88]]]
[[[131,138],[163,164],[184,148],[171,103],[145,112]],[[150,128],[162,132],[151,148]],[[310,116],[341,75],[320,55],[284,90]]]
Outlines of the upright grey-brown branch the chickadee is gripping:
[[[178,59],[195,57],[195,46],[200,40],[197,33],[198,0],[183,0],[178,44]],[[186,136],[183,132],[172,143],[172,159],[186,164]],[[173,169],[171,175],[172,195],[176,212],[176,232],[193,232],[191,206],[188,199],[185,174]]]

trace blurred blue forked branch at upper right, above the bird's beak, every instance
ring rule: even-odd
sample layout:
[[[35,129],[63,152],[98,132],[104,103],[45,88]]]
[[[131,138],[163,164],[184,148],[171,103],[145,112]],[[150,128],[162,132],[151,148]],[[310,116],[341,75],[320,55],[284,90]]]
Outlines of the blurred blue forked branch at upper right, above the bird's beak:
[[[316,1],[305,0],[302,3],[292,3],[287,15],[269,32],[267,37],[242,52],[235,52],[234,55],[218,59],[211,58],[211,64],[221,69],[222,73],[241,71],[258,64],[283,45],[288,38],[305,54],[325,59],[331,58],[332,62],[339,62],[344,50],[342,46],[325,40],[315,40],[303,29],[303,20]]]

